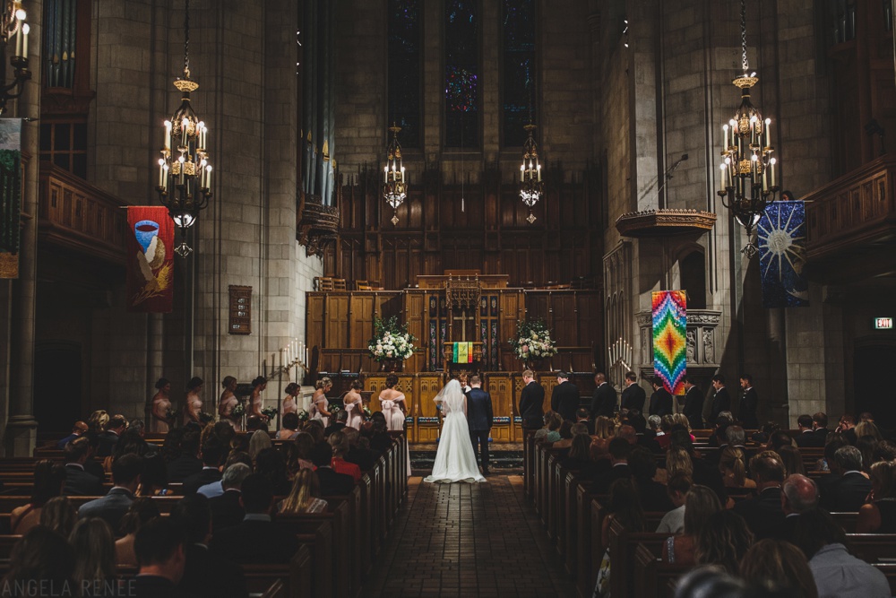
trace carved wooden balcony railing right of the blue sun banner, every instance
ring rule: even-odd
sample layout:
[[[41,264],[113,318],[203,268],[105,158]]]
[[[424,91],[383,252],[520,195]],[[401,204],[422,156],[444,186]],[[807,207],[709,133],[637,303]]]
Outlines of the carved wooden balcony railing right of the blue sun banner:
[[[872,160],[806,195],[808,246],[813,273],[824,264],[876,254],[896,238],[896,155]],[[889,249],[892,259],[892,245]]]

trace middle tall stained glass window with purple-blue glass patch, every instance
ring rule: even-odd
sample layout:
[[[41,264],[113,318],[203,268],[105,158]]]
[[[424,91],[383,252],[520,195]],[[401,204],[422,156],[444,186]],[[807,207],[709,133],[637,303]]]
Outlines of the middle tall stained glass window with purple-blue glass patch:
[[[478,0],[445,0],[445,147],[479,147]]]

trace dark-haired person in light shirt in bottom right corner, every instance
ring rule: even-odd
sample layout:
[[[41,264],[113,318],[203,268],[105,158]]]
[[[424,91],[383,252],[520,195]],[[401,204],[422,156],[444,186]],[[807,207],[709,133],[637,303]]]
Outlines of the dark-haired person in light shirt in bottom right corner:
[[[809,559],[819,598],[884,598],[891,596],[883,572],[849,553],[846,533],[821,509],[799,517],[794,542]]]

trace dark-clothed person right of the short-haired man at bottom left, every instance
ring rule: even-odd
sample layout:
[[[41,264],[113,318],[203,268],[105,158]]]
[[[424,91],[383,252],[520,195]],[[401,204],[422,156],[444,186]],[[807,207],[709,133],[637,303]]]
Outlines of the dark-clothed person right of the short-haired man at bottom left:
[[[171,517],[181,525],[186,536],[186,564],[178,587],[199,598],[248,598],[242,570],[222,555],[212,555],[209,551],[209,499],[201,494],[184,497]]]

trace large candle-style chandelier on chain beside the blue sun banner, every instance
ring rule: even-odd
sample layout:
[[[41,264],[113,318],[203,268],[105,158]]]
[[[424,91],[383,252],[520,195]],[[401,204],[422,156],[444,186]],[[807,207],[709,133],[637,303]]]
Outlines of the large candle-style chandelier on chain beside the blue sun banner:
[[[722,204],[746,230],[746,246],[743,253],[747,258],[758,251],[753,241],[753,230],[765,206],[775,201],[780,191],[775,149],[771,145],[771,118],[762,119],[762,114],[750,100],[750,89],[759,81],[755,72],[750,71],[746,59],[746,3],[740,3],[740,39],[744,74],[733,83],[741,90],[740,108],[722,126],[725,139],[719,165],[719,196]]]

